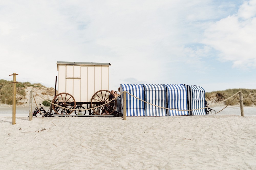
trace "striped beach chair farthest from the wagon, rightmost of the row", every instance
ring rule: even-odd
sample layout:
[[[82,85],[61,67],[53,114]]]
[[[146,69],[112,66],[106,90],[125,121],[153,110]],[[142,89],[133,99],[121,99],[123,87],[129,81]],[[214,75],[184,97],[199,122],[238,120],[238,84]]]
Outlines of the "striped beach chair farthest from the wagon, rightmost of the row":
[[[196,85],[184,84],[188,91],[188,109],[204,108],[205,89]],[[189,111],[189,115],[205,115],[205,109]]]

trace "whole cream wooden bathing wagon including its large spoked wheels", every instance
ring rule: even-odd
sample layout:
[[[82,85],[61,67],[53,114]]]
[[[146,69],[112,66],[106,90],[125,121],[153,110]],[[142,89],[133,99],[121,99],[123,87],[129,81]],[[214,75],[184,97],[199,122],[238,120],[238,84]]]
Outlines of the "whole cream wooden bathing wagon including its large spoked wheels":
[[[109,115],[116,109],[116,99],[99,108],[114,98],[109,91],[110,63],[66,62],[57,61],[58,92],[52,109],[57,114],[71,114],[70,109],[90,109],[74,111],[76,114]],[[61,107],[64,108],[61,108]]]

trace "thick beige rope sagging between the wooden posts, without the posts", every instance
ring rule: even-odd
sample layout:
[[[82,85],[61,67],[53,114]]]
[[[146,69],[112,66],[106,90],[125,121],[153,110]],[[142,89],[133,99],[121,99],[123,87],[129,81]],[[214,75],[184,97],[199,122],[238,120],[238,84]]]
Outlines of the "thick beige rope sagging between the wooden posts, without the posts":
[[[31,90],[31,91],[33,91],[33,90]],[[33,91],[33,92],[36,93],[35,91]],[[219,104],[219,103],[222,103],[222,102],[224,102],[224,101],[226,101],[226,100],[232,98],[234,95],[238,95],[238,93],[240,93],[240,91],[238,91],[236,94],[230,96],[229,98],[227,98],[227,99],[225,99],[225,100],[223,100],[223,101],[220,101],[220,102],[218,102],[218,103],[216,103],[216,104],[214,104],[214,105],[211,105],[211,106],[207,106],[207,107],[200,108],[200,109],[188,109],[188,110],[170,109],[170,108],[165,108],[165,107],[157,106],[157,105],[155,105],[155,104],[152,104],[152,103],[149,103],[149,102],[147,102],[147,101],[144,101],[144,100],[142,100],[142,99],[140,99],[140,98],[138,98],[138,97],[132,95],[131,93],[129,93],[129,92],[127,92],[127,91],[123,91],[123,92],[120,93],[118,96],[114,97],[113,99],[109,100],[108,102],[106,102],[106,103],[104,103],[104,104],[102,104],[102,105],[100,105],[100,106],[96,106],[96,107],[90,108],[90,109],[70,109],[70,108],[65,108],[65,107],[59,106],[59,105],[57,105],[57,104],[55,104],[55,103],[52,103],[52,102],[50,102],[50,101],[48,101],[48,102],[51,103],[51,104],[53,104],[53,105],[55,105],[55,106],[58,106],[58,107],[60,107],[60,108],[63,108],[63,109],[84,111],[84,110],[91,110],[91,109],[96,109],[96,108],[102,107],[102,106],[104,106],[104,105],[110,103],[112,100],[114,100],[114,99],[118,98],[119,96],[121,96],[121,94],[123,94],[124,92],[126,92],[127,94],[133,96],[134,98],[136,98],[136,99],[138,99],[138,100],[141,100],[141,101],[143,101],[143,102],[145,102],[145,103],[151,104],[152,106],[156,106],[156,107],[159,107],[159,108],[162,108],[162,109],[176,110],[176,111],[192,111],[192,110],[206,109],[206,108],[208,108],[208,107],[212,107],[212,106],[215,106],[215,105],[217,105],[217,104]],[[37,93],[36,93],[36,94],[37,94]],[[37,95],[38,95],[38,94],[37,94]],[[42,99],[46,100],[46,99],[43,98],[42,96],[40,96],[40,95],[38,95],[38,96],[41,97]],[[233,100],[234,100],[234,99],[233,99]],[[233,100],[232,100],[232,101],[233,101]],[[232,102],[232,101],[231,101],[231,102]],[[230,103],[231,103],[231,102],[230,102]],[[229,104],[230,104],[230,103],[229,103]],[[226,108],[226,107],[225,107],[225,108]],[[225,108],[224,108],[224,109],[225,109]],[[223,110],[223,109],[222,109],[222,110]]]

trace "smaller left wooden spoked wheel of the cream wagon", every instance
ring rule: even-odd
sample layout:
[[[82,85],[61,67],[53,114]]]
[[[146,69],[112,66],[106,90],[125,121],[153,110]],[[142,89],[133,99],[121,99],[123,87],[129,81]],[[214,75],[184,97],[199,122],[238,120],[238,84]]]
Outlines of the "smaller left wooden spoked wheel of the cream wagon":
[[[54,104],[58,105],[58,106],[55,106],[55,105],[52,106],[52,109],[57,114],[71,114],[73,110],[69,110],[69,109],[74,109],[76,106],[76,101],[74,97],[68,93],[59,93],[54,97],[52,101]],[[67,109],[61,108],[59,106]]]

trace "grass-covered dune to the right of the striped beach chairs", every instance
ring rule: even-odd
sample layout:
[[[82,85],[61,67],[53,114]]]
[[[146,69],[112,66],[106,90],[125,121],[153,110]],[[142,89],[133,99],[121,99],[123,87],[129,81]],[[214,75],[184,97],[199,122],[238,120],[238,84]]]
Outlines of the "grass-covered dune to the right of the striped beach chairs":
[[[243,104],[244,106],[252,106],[253,104],[256,105],[256,89],[245,89],[245,88],[234,88],[234,89],[227,89],[227,90],[219,90],[219,91],[212,91],[206,92],[205,97],[206,100],[213,101],[218,103],[223,101],[232,95],[236,94],[238,91],[242,91],[243,93]],[[233,98],[230,98],[225,101],[225,104],[228,105]],[[229,105],[238,105],[239,104],[239,95],[229,104]]]

